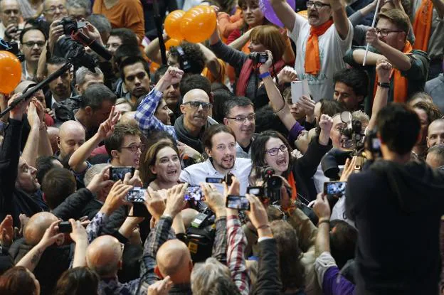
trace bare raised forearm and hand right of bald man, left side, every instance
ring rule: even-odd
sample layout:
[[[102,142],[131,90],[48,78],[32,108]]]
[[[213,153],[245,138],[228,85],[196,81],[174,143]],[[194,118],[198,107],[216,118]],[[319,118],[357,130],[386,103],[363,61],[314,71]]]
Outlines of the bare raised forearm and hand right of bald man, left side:
[[[108,119],[100,124],[97,133],[93,137],[88,139],[84,144],[82,144],[70,157],[69,166],[75,173],[83,173],[86,168],[88,168],[88,163],[86,159],[90,157],[91,152],[97,147],[100,142],[107,139],[107,137],[112,135],[114,132],[114,127],[119,120],[119,112],[113,106],[111,108],[110,116]]]

